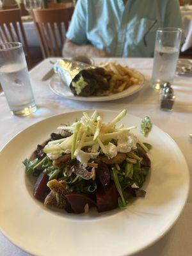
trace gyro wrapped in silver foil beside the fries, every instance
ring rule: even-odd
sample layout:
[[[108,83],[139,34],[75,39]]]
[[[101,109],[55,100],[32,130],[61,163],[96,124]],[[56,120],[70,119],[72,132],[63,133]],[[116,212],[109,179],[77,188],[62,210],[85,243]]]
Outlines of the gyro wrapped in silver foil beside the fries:
[[[58,60],[54,65],[63,83],[70,87],[76,96],[104,95],[109,89],[111,75],[104,68],[88,65],[74,60]]]

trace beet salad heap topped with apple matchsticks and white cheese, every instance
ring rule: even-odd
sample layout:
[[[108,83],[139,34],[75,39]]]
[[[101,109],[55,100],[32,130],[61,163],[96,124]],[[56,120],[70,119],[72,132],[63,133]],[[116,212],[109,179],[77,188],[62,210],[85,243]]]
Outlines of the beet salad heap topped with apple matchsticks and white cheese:
[[[35,159],[23,161],[26,173],[37,177],[34,196],[74,213],[125,208],[133,196],[145,196],[152,146],[131,132],[135,126],[117,124],[126,113],[104,124],[97,111],[84,112],[74,124],[60,125],[37,146]]]

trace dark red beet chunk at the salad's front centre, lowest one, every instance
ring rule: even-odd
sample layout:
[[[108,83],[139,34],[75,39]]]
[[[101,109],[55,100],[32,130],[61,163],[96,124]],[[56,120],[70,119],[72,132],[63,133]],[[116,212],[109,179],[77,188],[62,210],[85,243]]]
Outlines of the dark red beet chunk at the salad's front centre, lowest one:
[[[89,207],[95,206],[95,202],[83,193],[68,193],[65,195],[74,213],[83,213],[86,204]]]

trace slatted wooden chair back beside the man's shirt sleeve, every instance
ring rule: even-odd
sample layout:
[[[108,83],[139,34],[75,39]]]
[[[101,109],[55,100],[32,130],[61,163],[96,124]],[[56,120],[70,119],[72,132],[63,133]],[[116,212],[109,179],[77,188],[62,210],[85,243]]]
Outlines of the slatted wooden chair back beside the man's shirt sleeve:
[[[73,12],[74,7],[33,10],[31,12],[44,58],[61,56],[61,47],[65,38],[63,25],[67,31]]]

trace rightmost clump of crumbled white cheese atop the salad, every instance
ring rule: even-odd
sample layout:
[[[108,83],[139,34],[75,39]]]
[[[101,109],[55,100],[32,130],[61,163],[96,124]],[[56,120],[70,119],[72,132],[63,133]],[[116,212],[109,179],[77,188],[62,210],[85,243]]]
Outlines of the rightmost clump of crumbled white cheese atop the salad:
[[[132,149],[136,149],[137,138],[134,134],[129,133],[126,137],[123,136],[118,138],[117,141],[117,150],[121,153],[128,153]]]

